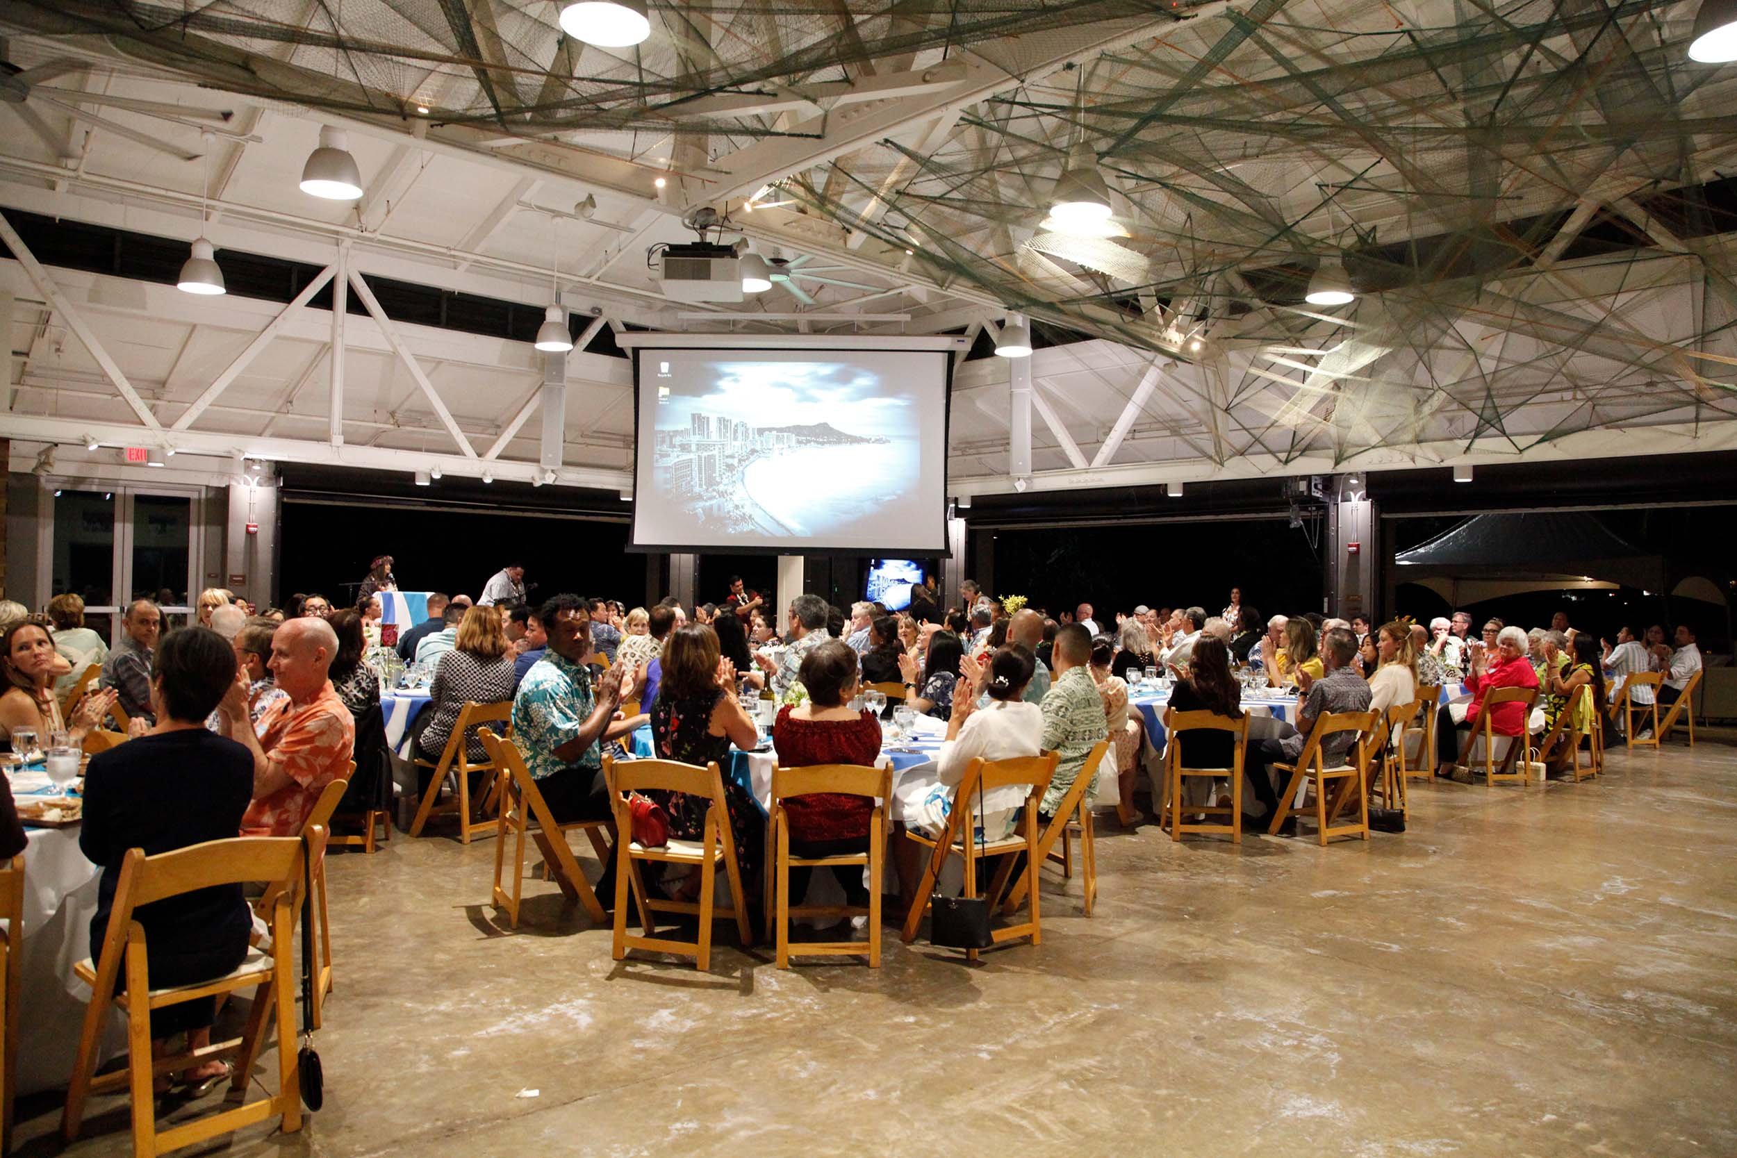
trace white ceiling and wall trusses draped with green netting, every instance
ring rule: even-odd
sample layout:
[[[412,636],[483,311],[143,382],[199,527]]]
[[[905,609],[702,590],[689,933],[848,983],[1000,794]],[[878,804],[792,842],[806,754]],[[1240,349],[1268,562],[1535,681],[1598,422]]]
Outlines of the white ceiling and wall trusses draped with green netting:
[[[1016,464],[1042,490],[1737,444],[1737,66],[1687,61],[1694,0],[658,0],[634,50],[556,10],[0,9],[0,212],[323,271],[285,304],[0,262],[5,432],[551,481],[542,356],[389,321],[368,280],[540,307],[552,259],[587,333],[1027,314],[1063,340],[1028,391],[957,370],[961,495]],[[358,203],[297,189],[320,125]],[[1039,227],[1077,149],[1120,236]],[[664,299],[646,248],[698,205],[790,280]],[[1353,306],[1303,302],[1325,259]],[[307,306],[327,285],[367,314]],[[629,363],[565,373],[552,481],[631,486]]]

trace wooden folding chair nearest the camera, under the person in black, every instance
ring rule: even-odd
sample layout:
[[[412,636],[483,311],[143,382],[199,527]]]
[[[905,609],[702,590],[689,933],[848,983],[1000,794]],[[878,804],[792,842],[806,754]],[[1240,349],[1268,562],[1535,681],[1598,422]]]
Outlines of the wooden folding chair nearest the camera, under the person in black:
[[[325,851],[325,830],[307,830],[307,851],[314,859]],[[271,906],[273,953],[248,950],[233,972],[196,984],[151,988],[149,955],[144,927],[134,920],[134,910],[214,885],[266,882],[274,894]],[[132,1094],[132,1149],[137,1158],[163,1155],[191,1146],[217,1134],[228,1134],[280,1118],[285,1134],[302,1127],[302,1094],[295,1050],[295,910],[302,891],[302,840],[297,837],[234,837],[208,840],[160,856],[146,856],[144,849],[130,849],[122,859],[120,882],[109,910],[108,934],[101,957],[73,965],[73,974],[90,986],[90,1005],[85,1009],[85,1026],[78,1042],[78,1061],[66,1090],[66,1111],[61,1116],[61,1134],[68,1142],[78,1137],[83,1122],[85,1099],[92,1092],[129,1089]],[[115,983],[125,974],[127,984],[116,993]],[[151,1059],[151,1010],[215,993],[255,990],[247,1030],[231,1042],[207,1045],[160,1061]],[[127,1010],[127,1068],[94,1078],[97,1043],[108,1026],[109,1005]],[[276,1009],[278,1031],[278,1092],[259,1101],[245,1101],[252,1083],[254,1063],[266,1036],[266,1019]],[[184,1069],[214,1057],[234,1057],[234,1078],[229,1082],[231,1109],[219,1111],[158,1132],[153,1106],[151,1080],[162,1073]]]

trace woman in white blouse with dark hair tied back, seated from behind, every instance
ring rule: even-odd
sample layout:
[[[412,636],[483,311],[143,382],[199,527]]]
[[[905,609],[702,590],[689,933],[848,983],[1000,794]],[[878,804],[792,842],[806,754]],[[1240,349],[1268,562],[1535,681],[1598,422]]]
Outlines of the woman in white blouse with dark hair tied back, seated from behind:
[[[910,778],[895,788],[905,818],[905,828],[914,828],[935,839],[947,830],[954,811],[954,793],[964,780],[971,760],[1011,760],[1037,755],[1044,743],[1044,712],[1025,701],[1025,686],[1037,670],[1037,656],[1023,644],[1009,644],[983,660],[961,660],[961,679],[954,689],[954,707],[947,720],[947,740],[935,762],[935,778]],[[978,708],[978,696],[988,693],[990,703]],[[1001,840],[1013,833],[1020,809],[1028,795],[1025,785],[1004,785],[983,792],[983,802],[971,800],[976,813],[976,830],[983,840]],[[922,872],[921,849],[914,840],[900,840],[895,859],[898,865],[900,894],[905,903],[917,898],[912,892]]]

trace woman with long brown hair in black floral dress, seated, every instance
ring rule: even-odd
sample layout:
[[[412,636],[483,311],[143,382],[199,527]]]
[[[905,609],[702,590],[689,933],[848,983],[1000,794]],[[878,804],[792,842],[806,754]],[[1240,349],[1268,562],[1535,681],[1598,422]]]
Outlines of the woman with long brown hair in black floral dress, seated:
[[[651,745],[658,759],[700,767],[717,762],[719,767],[728,767],[731,743],[738,748],[759,743],[754,719],[736,700],[736,668],[717,653],[717,632],[710,625],[677,627],[664,646],[664,682],[651,708]],[[855,653],[849,655],[849,668],[855,675]],[[705,814],[712,807],[709,799],[681,792],[646,795],[669,813],[670,837],[705,839]],[[724,806],[736,845],[742,887],[745,892],[759,894],[766,814],[754,795],[730,776],[724,776]],[[698,887],[698,880],[700,870],[695,868],[690,877],[690,894]]]

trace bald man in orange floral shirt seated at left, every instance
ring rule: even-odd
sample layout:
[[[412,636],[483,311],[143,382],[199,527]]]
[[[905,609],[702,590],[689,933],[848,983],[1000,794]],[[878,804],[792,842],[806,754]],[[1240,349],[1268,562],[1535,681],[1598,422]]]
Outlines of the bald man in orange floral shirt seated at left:
[[[271,635],[266,667],[287,694],[248,722],[247,675],[222,701],[224,726],[254,753],[254,802],[241,816],[250,837],[299,835],[320,793],[340,778],[356,748],[356,720],[332,689],[337,632],[325,620],[288,620]]]

